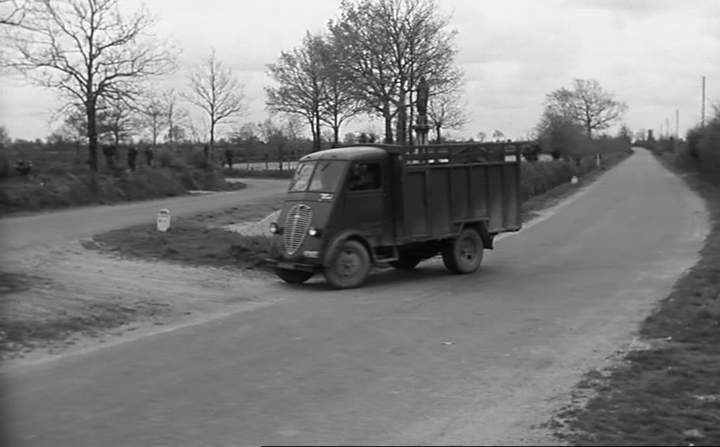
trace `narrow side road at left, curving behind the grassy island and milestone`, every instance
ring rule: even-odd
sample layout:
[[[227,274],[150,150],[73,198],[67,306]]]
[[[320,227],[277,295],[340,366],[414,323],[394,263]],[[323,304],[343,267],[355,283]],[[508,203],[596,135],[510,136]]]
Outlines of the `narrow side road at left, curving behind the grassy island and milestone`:
[[[154,222],[161,208],[173,216],[229,208],[241,202],[273,197],[287,190],[287,180],[243,179],[246,189],[196,196],[170,197],[122,205],[93,206],[0,219],[4,253],[28,246],[49,245],[94,233]]]

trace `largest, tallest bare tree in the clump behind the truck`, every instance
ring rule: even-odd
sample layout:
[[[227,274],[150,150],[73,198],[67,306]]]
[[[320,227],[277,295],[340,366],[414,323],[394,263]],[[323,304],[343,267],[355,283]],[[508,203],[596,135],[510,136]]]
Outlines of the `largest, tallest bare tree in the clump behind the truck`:
[[[422,77],[431,94],[459,85],[456,33],[438,11],[435,0],[344,0],[340,18],[329,25],[341,73],[364,108],[382,116],[388,143],[407,141]]]

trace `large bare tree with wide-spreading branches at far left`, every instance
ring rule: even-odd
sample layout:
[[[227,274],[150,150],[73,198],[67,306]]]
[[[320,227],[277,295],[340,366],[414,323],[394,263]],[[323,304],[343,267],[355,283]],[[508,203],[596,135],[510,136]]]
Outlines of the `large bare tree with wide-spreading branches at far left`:
[[[97,110],[104,99],[130,98],[138,81],[174,67],[166,42],[145,36],[154,19],[145,9],[123,15],[118,0],[38,0],[8,36],[10,65],[39,85],[82,104],[90,167],[97,171]]]

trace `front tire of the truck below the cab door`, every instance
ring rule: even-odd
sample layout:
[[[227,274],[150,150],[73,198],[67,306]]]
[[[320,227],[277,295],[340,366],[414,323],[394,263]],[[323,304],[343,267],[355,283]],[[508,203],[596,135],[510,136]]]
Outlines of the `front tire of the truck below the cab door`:
[[[370,255],[358,241],[345,241],[325,269],[325,278],[336,289],[359,287],[370,272]]]

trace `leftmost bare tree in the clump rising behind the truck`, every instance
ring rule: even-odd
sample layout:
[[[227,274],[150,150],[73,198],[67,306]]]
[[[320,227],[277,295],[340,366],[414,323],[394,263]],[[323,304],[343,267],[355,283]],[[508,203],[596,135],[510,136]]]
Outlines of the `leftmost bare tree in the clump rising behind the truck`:
[[[266,87],[270,111],[303,117],[310,125],[313,150],[320,149],[320,106],[327,100],[325,44],[319,35],[305,34],[302,45],[283,51],[274,64],[267,66],[277,87]]]

